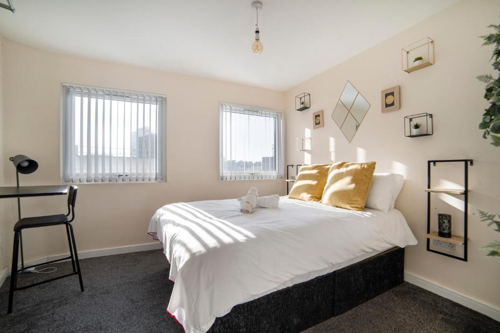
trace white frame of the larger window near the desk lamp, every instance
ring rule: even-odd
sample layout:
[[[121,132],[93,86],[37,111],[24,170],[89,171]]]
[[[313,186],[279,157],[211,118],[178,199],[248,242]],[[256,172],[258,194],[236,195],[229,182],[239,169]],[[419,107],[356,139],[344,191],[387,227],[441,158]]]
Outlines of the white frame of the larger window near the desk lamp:
[[[116,180],[112,180],[112,179],[102,180],[102,181],[92,180],[91,182],[88,182],[88,181],[83,181],[83,182],[66,181],[65,175],[64,175],[64,172],[65,172],[64,170],[65,170],[65,166],[66,166],[65,136],[66,136],[66,121],[67,121],[66,112],[65,112],[67,105],[65,105],[65,98],[64,98],[64,87],[65,86],[73,86],[73,87],[80,87],[80,88],[86,88],[86,89],[109,90],[111,92],[119,92],[119,93],[124,92],[125,94],[151,95],[151,96],[163,98],[163,103],[162,103],[162,107],[160,110],[161,120],[162,120],[161,121],[161,126],[162,126],[162,131],[161,131],[161,165],[162,165],[161,179],[156,179],[156,180],[130,180],[130,179],[128,179],[127,180],[123,177],[121,177],[121,178],[114,177],[114,178],[116,178]],[[166,177],[167,176],[166,109],[167,109],[167,95],[165,95],[165,94],[61,82],[61,84],[60,84],[60,131],[59,131],[59,142],[60,142],[60,147],[59,147],[59,151],[60,151],[60,154],[59,154],[59,159],[60,159],[59,177],[60,177],[61,183],[62,184],[79,184],[79,185],[81,185],[81,184],[133,184],[133,183],[165,183],[165,182],[167,182],[167,177]],[[81,178],[81,176],[80,176],[80,178]],[[93,177],[93,178],[95,178],[95,177]]]

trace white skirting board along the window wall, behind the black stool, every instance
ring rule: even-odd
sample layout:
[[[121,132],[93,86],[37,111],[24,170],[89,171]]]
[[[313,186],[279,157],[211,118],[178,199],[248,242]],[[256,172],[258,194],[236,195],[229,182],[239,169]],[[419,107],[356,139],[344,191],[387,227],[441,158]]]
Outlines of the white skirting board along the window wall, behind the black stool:
[[[131,246],[122,246],[118,248],[109,248],[109,249],[100,249],[100,250],[90,250],[90,251],[78,251],[78,259],[87,259],[87,258],[95,258],[95,257],[104,257],[104,256],[112,256],[119,255],[124,253],[131,252],[139,252],[139,251],[149,251],[149,250],[158,250],[162,249],[161,243],[147,243],[147,244],[139,244],[139,245],[131,245]],[[56,260],[59,258],[64,258],[69,256],[69,253],[42,257],[38,259],[33,259],[27,262],[24,262],[25,266],[31,265],[43,265],[47,261]],[[68,259],[69,260],[69,259]],[[19,267],[20,268],[20,267]],[[7,266],[0,272],[0,287],[3,285],[5,279],[10,276],[10,266]]]

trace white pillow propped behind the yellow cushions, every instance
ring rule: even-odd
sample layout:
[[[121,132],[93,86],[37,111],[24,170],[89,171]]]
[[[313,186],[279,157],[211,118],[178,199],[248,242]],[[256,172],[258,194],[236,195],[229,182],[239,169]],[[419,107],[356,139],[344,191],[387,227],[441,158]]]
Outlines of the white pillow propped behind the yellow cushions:
[[[374,173],[365,207],[388,212],[394,208],[399,192],[404,184],[404,177],[395,173]]]

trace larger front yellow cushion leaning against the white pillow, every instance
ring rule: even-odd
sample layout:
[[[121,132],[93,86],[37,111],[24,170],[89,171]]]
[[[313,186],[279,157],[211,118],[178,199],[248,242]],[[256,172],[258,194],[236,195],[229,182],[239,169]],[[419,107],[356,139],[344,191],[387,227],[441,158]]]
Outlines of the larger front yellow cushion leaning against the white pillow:
[[[328,171],[321,203],[363,211],[376,162],[333,163]]]

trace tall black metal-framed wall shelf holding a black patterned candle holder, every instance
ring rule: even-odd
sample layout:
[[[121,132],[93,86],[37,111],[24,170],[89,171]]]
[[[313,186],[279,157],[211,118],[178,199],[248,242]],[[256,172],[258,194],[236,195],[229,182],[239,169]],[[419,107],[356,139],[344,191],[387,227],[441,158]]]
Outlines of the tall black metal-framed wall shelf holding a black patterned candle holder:
[[[461,162],[463,163],[463,189],[443,189],[443,188],[431,188],[430,187],[430,164],[435,166],[436,163],[447,163],[447,162]],[[467,261],[467,242],[469,239],[467,238],[467,215],[468,215],[468,167],[472,166],[473,161],[471,159],[461,159],[461,160],[430,160],[427,161],[427,188],[425,191],[427,192],[427,251],[440,254],[442,256],[458,259],[461,261]],[[430,194],[431,193],[447,193],[447,194],[458,194],[463,195],[463,237],[451,235],[451,238],[439,237],[437,232],[430,231]],[[447,242],[454,245],[463,245],[463,258],[458,256],[453,256],[447,253],[439,252],[436,250],[430,249],[430,240],[439,240],[442,242]]]

